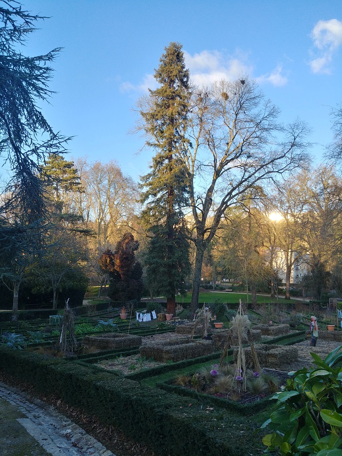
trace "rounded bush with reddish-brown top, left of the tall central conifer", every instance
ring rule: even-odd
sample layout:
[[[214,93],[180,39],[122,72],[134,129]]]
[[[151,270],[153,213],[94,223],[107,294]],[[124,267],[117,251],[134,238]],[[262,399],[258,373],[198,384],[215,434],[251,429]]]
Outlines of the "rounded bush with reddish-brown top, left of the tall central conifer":
[[[108,296],[114,301],[139,300],[143,289],[143,270],[135,260],[139,242],[126,233],[116,244],[114,253],[107,249],[99,258],[99,265],[109,275]]]

